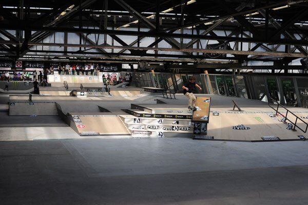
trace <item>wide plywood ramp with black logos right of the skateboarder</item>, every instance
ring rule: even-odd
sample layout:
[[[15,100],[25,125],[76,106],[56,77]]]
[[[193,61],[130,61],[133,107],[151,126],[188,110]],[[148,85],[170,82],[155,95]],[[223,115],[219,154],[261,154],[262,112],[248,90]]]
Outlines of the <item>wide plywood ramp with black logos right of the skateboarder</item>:
[[[267,114],[220,113],[211,116],[207,126],[207,135],[221,140],[262,140],[264,136],[275,136],[281,140],[297,140],[298,135],[306,136],[297,129],[296,132],[287,129],[287,123],[279,122],[280,117],[269,117]],[[237,129],[234,126],[244,125]],[[245,127],[247,129],[245,129]],[[249,128],[249,129],[248,129]]]

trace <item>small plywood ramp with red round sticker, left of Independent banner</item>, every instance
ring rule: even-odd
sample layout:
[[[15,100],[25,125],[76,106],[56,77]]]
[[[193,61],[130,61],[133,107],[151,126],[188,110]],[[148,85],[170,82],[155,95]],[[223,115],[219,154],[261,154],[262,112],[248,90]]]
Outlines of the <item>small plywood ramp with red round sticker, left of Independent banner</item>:
[[[83,128],[78,132],[96,132],[100,135],[130,135],[128,129],[118,116],[79,116]]]

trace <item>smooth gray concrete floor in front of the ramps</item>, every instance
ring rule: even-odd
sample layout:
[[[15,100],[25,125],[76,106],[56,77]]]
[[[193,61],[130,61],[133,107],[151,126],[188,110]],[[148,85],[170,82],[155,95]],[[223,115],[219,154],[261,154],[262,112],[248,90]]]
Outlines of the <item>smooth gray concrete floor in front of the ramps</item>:
[[[0,142],[6,204],[307,204],[308,142]]]

